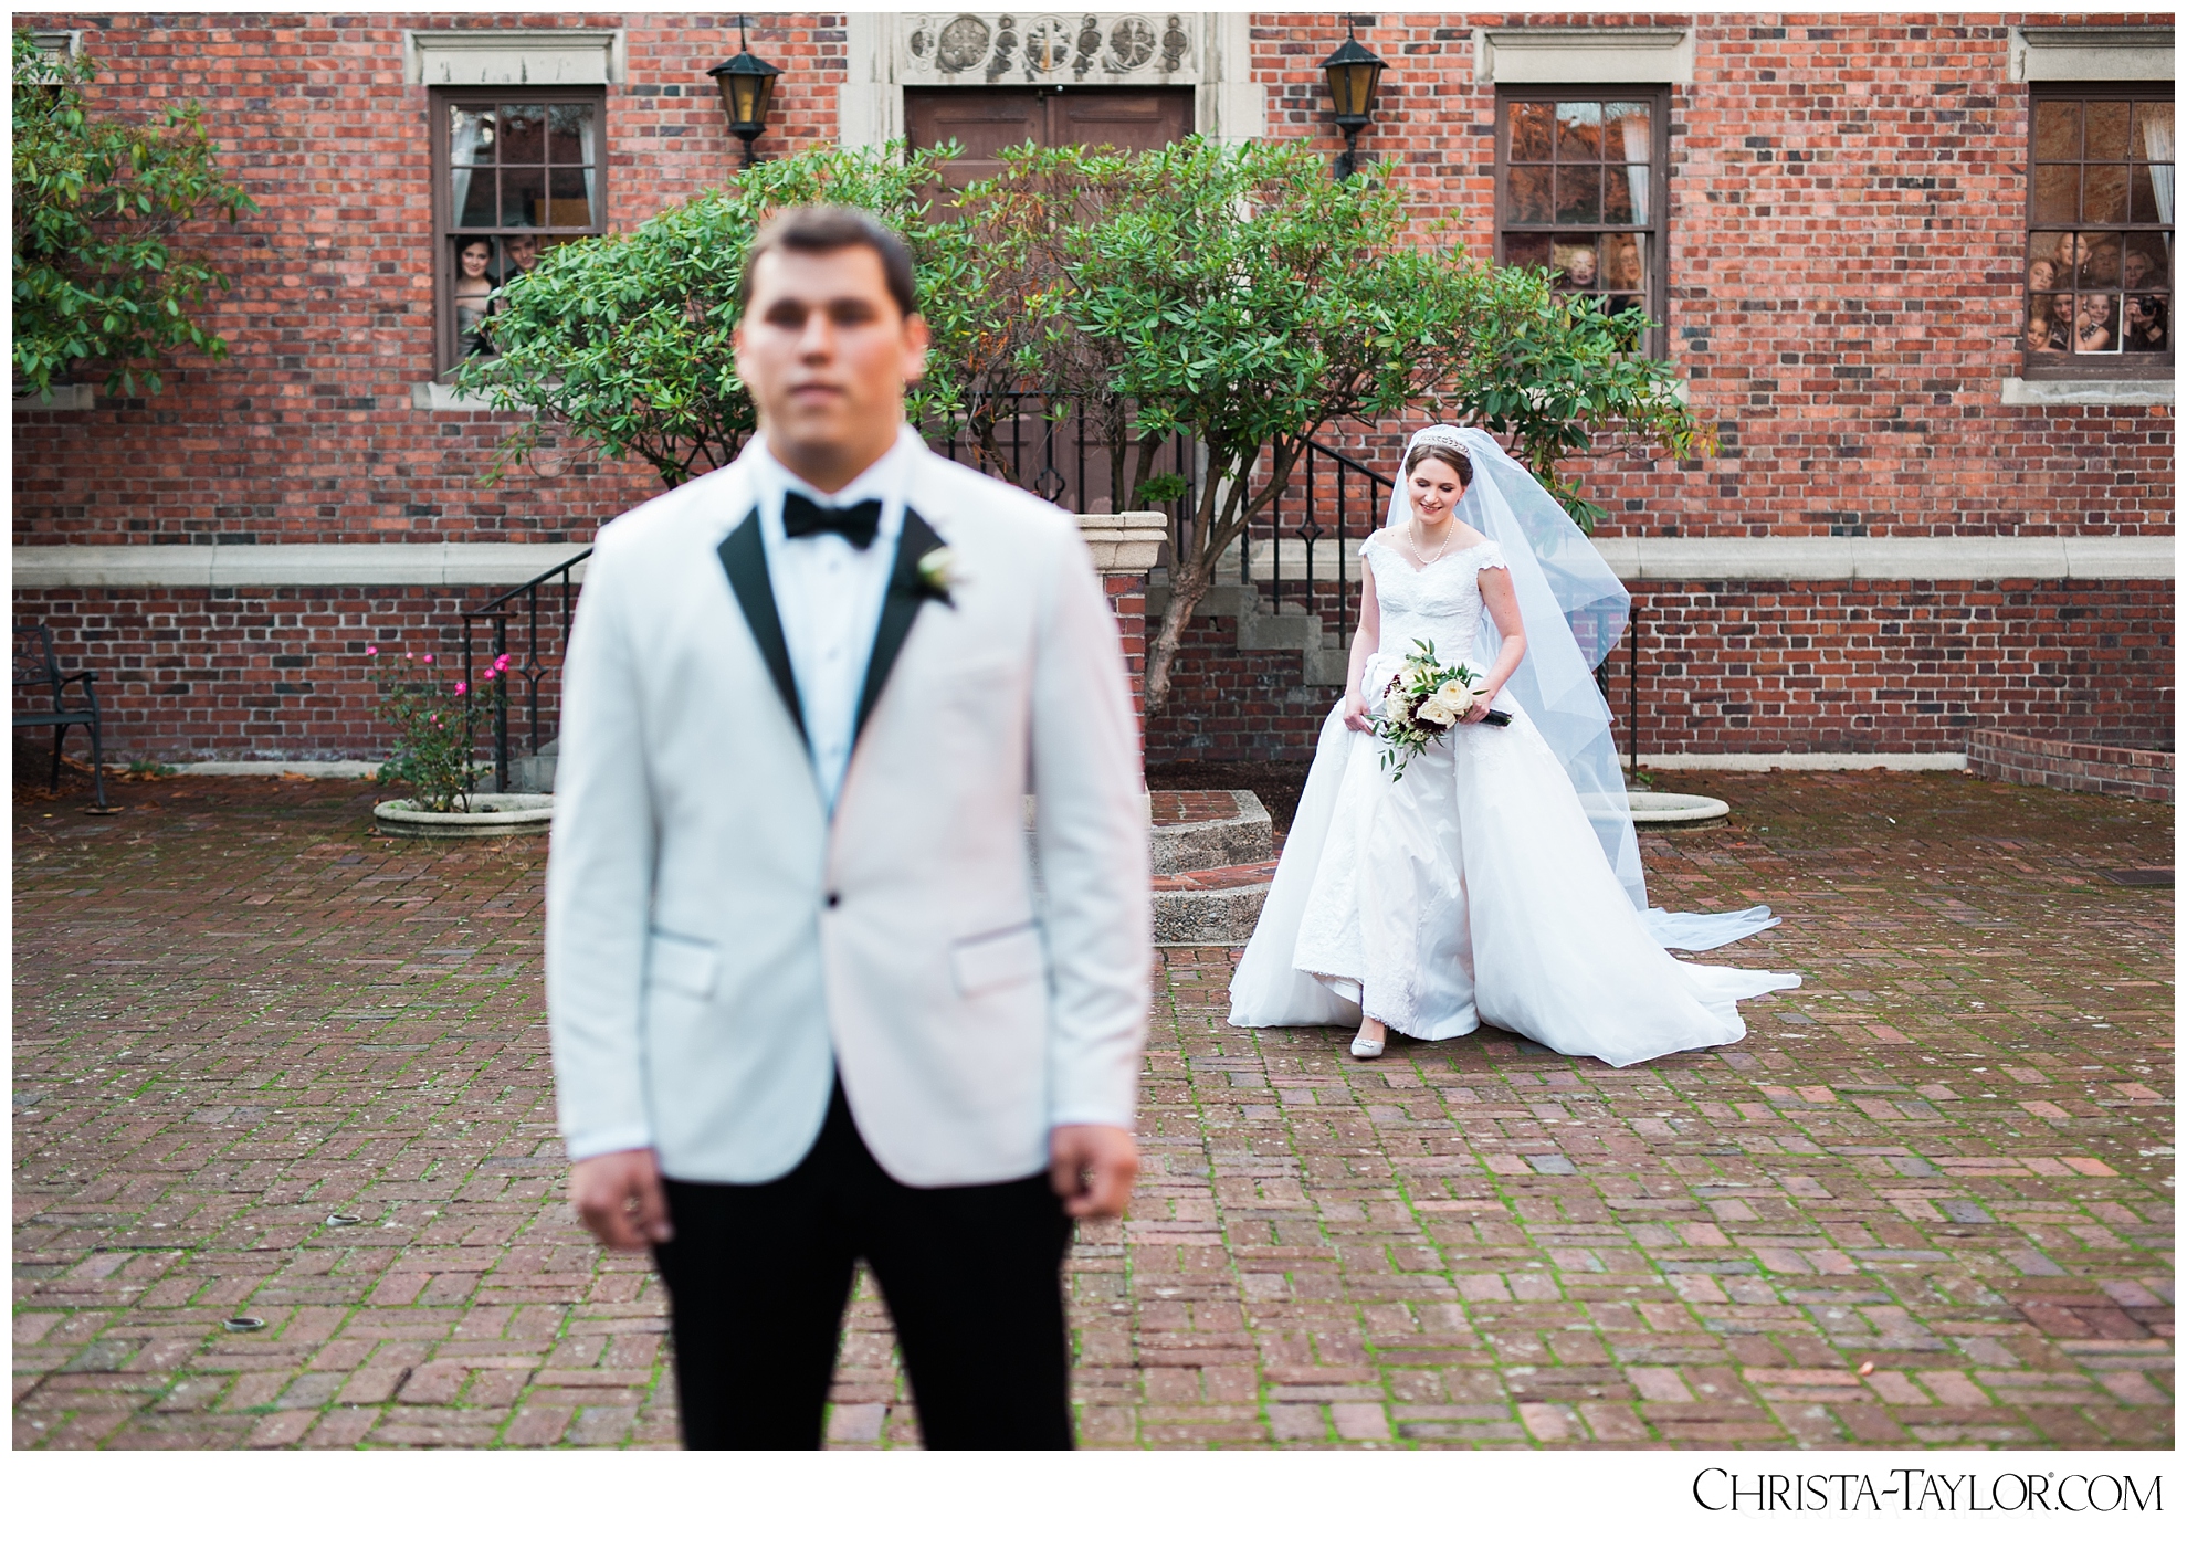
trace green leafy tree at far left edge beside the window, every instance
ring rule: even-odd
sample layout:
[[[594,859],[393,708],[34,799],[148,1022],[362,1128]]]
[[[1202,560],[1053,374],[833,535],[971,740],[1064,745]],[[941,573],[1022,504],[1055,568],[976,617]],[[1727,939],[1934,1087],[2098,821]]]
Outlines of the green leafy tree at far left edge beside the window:
[[[90,57],[55,57],[15,33],[15,376],[50,400],[77,363],[105,361],[107,392],[160,392],[175,350],[227,357],[199,313],[227,276],[175,236],[203,212],[258,210],[221,177],[203,109],[157,123],[94,116]]]

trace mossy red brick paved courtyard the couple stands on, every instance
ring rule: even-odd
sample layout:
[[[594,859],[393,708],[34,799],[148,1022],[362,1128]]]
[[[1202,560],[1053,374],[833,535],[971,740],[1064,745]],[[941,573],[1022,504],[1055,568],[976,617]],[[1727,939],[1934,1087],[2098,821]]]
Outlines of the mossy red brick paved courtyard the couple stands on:
[[[1072,1258],[1094,1446],[2170,1446],[2170,807],[1680,774],[1658,901],[1767,899],[1745,1044],[1220,1022],[1166,952],[1148,1175]],[[370,788],[15,801],[17,1446],[660,1446],[660,1293],[560,1203],[545,840]],[[356,1216],[337,1225],[330,1216]],[[862,1289],[831,1433],[916,1426]],[[265,1319],[223,1332],[230,1315]]]

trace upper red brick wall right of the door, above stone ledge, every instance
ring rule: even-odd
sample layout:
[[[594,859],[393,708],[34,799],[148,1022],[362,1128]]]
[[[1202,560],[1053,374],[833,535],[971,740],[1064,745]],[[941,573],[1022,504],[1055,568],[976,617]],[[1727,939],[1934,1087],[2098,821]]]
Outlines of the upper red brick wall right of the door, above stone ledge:
[[[1605,536],[2172,529],[2172,411],[2008,409],[2025,271],[2027,88],[2005,26],[2148,15],[1376,15],[1389,61],[1360,153],[1496,230],[1487,26],[1693,26],[1671,94],[1669,348],[1721,451],[1603,457]],[[2170,24],[2170,22],[2163,22]],[[1330,18],[1255,18],[1268,127],[1334,155]]]

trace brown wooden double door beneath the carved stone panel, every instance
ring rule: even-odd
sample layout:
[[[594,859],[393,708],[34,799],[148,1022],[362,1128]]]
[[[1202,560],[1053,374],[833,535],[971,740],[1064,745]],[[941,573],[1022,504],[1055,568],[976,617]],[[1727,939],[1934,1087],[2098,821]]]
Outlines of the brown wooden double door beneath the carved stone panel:
[[[1002,171],[997,151],[1013,144],[1107,144],[1159,151],[1192,133],[1192,88],[905,88],[905,138],[914,147],[956,140],[964,153],[947,182],[962,188]]]

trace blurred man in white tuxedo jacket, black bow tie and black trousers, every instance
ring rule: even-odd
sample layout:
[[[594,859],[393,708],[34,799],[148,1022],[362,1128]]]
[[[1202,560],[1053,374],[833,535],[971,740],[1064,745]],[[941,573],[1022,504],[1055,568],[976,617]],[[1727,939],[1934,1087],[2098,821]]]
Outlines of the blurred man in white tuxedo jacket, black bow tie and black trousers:
[[[892,232],[794,210],[744,284],[761,435],[601,532],[569,648],[571,1197],[654,1251],[687,1446],[820,1444],[857,1260],[927,1446],[1069,1446],[1153,952],[1115,621],[1067,516],[903,424]]]

